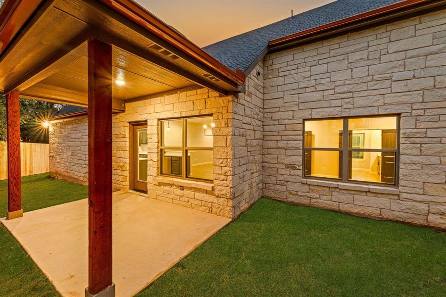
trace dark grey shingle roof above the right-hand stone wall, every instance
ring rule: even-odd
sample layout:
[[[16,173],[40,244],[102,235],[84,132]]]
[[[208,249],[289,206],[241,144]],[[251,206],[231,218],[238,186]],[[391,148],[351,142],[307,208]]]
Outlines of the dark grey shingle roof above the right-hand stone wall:
[[[214,58],[236,70],[246,71],[268,41],[387,6],[400,0],[338,0],[293,17],[204,47]]]

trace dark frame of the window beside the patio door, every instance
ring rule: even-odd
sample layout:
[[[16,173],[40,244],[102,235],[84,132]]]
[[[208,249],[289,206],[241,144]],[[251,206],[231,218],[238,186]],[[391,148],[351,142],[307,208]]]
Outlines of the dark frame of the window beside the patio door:
[[[188,119],[193,119],[193,118],[205,118],[205,117],[213,117],[213,114],[200,114],[200,115],[196,115],[196,116],[188,116],[188,117],[173,117],[173,118],[164,118],[164,119],[159,119],[159,125],[158,125],[158,135],[159,135],[159,142],[158,142],[158,152],[159,152],[159,175],[160,176],[167,176],[167,177],[174,177],[174,178],[180,178],[180,179],[184,179],[184,180],[192,180],[192,181],[199,181],[199,182],[206,182],[206,183],[213,183],[214,179],[213,179],[213,173],[212,173],[212,179],[208,180],[208,179],[200,179],[200,178],[193,178],[193,177],[188,177],[187,174],[187,151],[188,150],[211,150],[212,151],[212,168],[214,167],[213,164],[213,150],[214,150],[214,146],[213,146],[213,142],[212,142],[212,147],[210,148],[197,148],[197,147],[187,147],[187,120]],[[182,125],[183,125],[183,129],[182,129],[182,147],[165,147],[163,146],[163,130],[162,130],[162,122],[167,122],[167,121],[175,121],[175,120],[182,120]],[[212,134],[213,137],[213,134]],[[165,149],[176,149],[176,150],[181,150],[182,151],[182,160],[181,160],[181,176],[179,175],[175,175],[175,174],[167,174],[167,173],[162,173],[162,151]],[[212,170],[213,171],[213,170]]]

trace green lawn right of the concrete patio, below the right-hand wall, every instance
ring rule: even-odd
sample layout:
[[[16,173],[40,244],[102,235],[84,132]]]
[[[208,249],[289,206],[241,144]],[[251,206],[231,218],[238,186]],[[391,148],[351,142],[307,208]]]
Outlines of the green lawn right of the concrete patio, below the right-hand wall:
[[[445,296],[446,233],[262,198],[144,296]]]

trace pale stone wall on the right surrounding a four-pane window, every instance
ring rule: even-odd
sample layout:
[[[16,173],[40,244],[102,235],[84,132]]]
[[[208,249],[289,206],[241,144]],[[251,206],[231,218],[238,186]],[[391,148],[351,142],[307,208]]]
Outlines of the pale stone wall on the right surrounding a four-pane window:
[[[268,54],[263,194],[446,227],[446,10]],[[399,187],[302,178],[304,119],[400,114]]]

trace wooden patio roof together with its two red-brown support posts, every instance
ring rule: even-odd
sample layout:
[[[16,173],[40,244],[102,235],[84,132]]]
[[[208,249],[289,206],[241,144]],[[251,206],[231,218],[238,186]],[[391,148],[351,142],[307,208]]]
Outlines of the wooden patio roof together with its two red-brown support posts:
[[[121,81],[121,83],[119,83]],[[0,9],[0,93],[6,95],[7,219],[23,216],[19,95],[88,106],[89,281],[112,282],[112,112],[125,102],[199,85],[239,92],[233,72],[133,0],[6,0]]]

